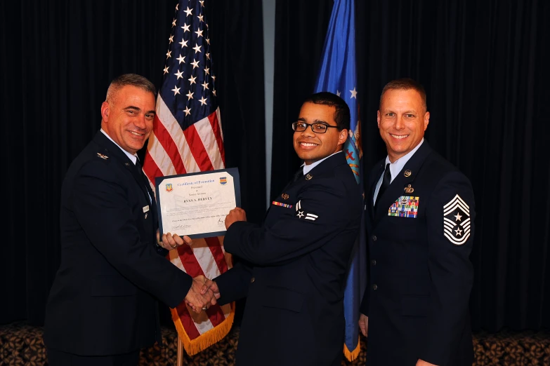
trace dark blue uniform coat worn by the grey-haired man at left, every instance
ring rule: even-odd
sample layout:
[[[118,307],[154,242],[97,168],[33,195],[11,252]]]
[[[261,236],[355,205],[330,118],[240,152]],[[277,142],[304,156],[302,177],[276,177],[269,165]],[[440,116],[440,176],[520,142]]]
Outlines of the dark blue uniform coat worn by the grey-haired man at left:
[[[46,306],[48,348],[112,355],[161,342],[157,299],[176,307],[192,278],[157,252],[150,196],[141,172],[101,132],[74,159],[61,191],[61,264]]]

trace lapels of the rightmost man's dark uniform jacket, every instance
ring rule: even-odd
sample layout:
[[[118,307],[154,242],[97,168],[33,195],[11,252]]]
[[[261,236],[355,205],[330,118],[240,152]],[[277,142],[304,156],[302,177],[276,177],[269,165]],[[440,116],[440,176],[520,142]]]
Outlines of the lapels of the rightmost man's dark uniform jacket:
[[[412,186],[412,182],[414,181],[414,178],[417,177],[422,164],[426,160],[426,156],[431,154],[431,152],[431,147],[428,145],[428,142],[424,140],[421,147],[419,147],[413,156],[411,156],[409,161],[407,161],[405,166],[403,166],[402,170],[393,179],[390,187],[386,189],[381,197],[377,198],[377,201],[380,201],[377,204],[377,212],[374,212],[375,223],[378,223],[382,217],[388,215],[388,209],[398,198],[400,198],[400,196],[410,196],[405,189],[409,184]],[[382,170],[384,170],[384,168],[382,168]],[[380,172],[380,174],[382,173]],[[378,177],[380,177],[380,175]],[[376,187],[376,183],[374,183],[374,185]]]

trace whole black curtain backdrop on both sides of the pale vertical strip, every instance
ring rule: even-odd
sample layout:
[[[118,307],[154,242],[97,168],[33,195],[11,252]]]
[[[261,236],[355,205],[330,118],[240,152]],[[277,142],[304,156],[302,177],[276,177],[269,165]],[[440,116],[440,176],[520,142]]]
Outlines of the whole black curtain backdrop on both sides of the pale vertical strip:
[[[243,207],[265,207],[261,2],[207,1],[226,165]],[[157,86],[175,0],[1,1],[0,103],[5,216],[0,323],[40,325],[59,265],[60,187],[99,128],[110,81],[136,72]],[[311,93],[332,0],[277,0],[270,196],[296,170],[290,123]],[[381,88],[418,79],[426,139],[476,194],[474,330],[550,327],[550,5],[542,0],[356,0],[358,100],[367,168],[385,154]]]

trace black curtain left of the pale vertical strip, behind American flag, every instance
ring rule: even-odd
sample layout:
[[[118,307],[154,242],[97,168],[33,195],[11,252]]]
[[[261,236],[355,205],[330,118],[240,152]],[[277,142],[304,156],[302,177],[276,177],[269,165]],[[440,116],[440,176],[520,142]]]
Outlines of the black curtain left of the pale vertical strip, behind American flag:
[[[6,117],[0,146],[8,217],[0,247],[0,324],[43,323],[60,262],[65,171],[100,128],[100,105],[115,76],[134,72],[160,87],[177,3],[0,1],[0,100]],[[225,163],[240,170],[249,221],[261,222],[266,210],[261,1],[204,4]]]

